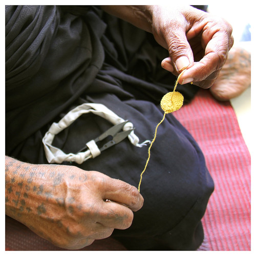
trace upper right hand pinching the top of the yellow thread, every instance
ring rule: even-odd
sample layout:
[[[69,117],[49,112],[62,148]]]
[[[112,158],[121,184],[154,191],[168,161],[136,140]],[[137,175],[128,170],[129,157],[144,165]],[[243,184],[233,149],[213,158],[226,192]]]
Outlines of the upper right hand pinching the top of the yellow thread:
[[[155,39],[169,52],[162,67],[176,76],[187,68],[180,77],[181,84],[193,81],[199,87],[209,88],[233,45],[231,26],[190,6],[150,8]]]

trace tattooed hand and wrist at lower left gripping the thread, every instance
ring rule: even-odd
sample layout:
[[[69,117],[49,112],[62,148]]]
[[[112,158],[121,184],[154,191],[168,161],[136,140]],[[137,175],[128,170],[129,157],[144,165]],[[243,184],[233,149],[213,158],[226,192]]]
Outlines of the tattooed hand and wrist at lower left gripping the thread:
[[[56,246],[80,249],[126,229],[142,204],[137,188],[104,174],[6,157],[6,214]]]

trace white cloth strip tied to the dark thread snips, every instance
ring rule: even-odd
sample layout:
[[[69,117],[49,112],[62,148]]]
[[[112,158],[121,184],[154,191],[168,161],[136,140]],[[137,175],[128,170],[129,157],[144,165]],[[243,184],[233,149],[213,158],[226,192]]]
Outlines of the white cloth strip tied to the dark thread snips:
[[[52,142],[54,140],[55,135],[60,133],[62,130],[71,125],[78,117],[82,114],[93,113],[95,115],[101,116],[106,120],[110,121],[114,125],[124,122],[125,120],[116,115],[110,109],[106,108],[106,106],[98,103],[83,103],[77,106],[75,109],[71,110],[68,114],[66,114],[58,123],[53,123],[49,131],[45,134],[44,138],[42,138],[42,143],[44,144],[46,158],[49,163],[62,163],[63,161],[68,162],[76,162],[81,164],[82,162],[97,157],[100,155],[100,150],[95,143],[95,141],[89,141],[87,146],[89,150],[85,152],[80,152],[78,154],[65,154],[60,148],[52,146]],[[127,131],[133,129],[133,123],[128,122],[123,126],[123,131]],[[135,135],[134,131],[130,133],[128,136],[130,142],[135,146],[143,146],[146,145],[149,140],[144,141],[139,144],[139,138]]]

